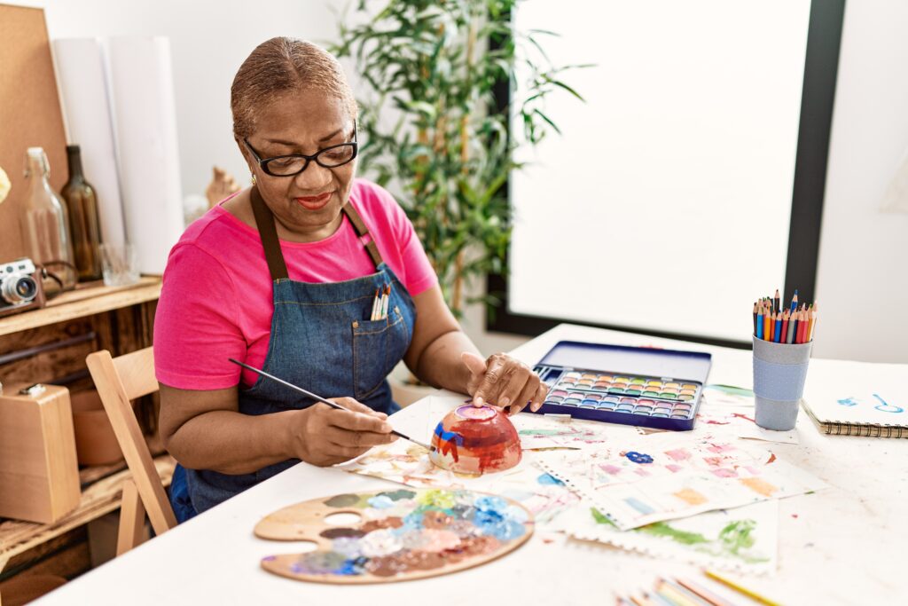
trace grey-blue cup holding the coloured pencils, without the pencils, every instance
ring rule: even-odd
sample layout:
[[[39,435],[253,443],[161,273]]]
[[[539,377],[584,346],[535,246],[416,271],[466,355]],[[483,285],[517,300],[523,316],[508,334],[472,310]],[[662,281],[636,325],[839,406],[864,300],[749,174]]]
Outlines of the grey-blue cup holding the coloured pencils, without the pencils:
[[[788,344],[754,337],[755,421],[765,429],[795,429],[814,343]]]

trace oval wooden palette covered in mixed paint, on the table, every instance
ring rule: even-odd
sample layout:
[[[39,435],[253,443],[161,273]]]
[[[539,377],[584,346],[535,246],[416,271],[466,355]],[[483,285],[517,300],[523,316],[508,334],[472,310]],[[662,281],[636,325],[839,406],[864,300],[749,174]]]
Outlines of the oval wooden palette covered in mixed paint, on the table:
[[[340,525],[326,520],[337,513],[358,520]],[[263,518],[255,535],[317,545],[315,551],[263,558],[266,571],[298,581],[360,584],[479,566],[517,549],[533,527],[530,512],[497,495],[400,488],[297,503]]]

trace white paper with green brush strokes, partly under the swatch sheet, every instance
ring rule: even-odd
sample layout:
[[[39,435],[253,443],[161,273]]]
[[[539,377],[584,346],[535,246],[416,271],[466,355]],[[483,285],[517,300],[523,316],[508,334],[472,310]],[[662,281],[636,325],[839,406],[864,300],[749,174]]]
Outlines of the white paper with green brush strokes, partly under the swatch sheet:
[[[693,495],[687,496],[696,500]],[[771,574],[777,565],[777,503],[758,502],[619,531],[607,516],[584,501],[563,513],[553,530],[656,558],[673,558],[726,571]]]

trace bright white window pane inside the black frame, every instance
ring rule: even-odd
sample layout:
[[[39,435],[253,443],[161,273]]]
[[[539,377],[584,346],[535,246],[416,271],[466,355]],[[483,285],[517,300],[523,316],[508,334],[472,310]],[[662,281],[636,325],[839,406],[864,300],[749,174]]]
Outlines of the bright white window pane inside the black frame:
[[[540,36],[553,62],[596,66],[565,75],[587,103],[551,95],[563,134],[511,175],[509,312],[746,341],[785,280],[809,13],[518,3],[518,30],[560,34]]]

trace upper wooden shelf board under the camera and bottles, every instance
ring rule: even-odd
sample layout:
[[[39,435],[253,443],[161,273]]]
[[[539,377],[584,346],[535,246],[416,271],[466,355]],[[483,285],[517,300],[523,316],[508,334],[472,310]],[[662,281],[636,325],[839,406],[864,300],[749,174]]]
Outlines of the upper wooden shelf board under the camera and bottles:
[[[154,301],[159,296],[159,276],[143,276],[139,282],[130,286],[86,284],[54,298],[43,309],[16,313],[0,319],[0,336]]]

